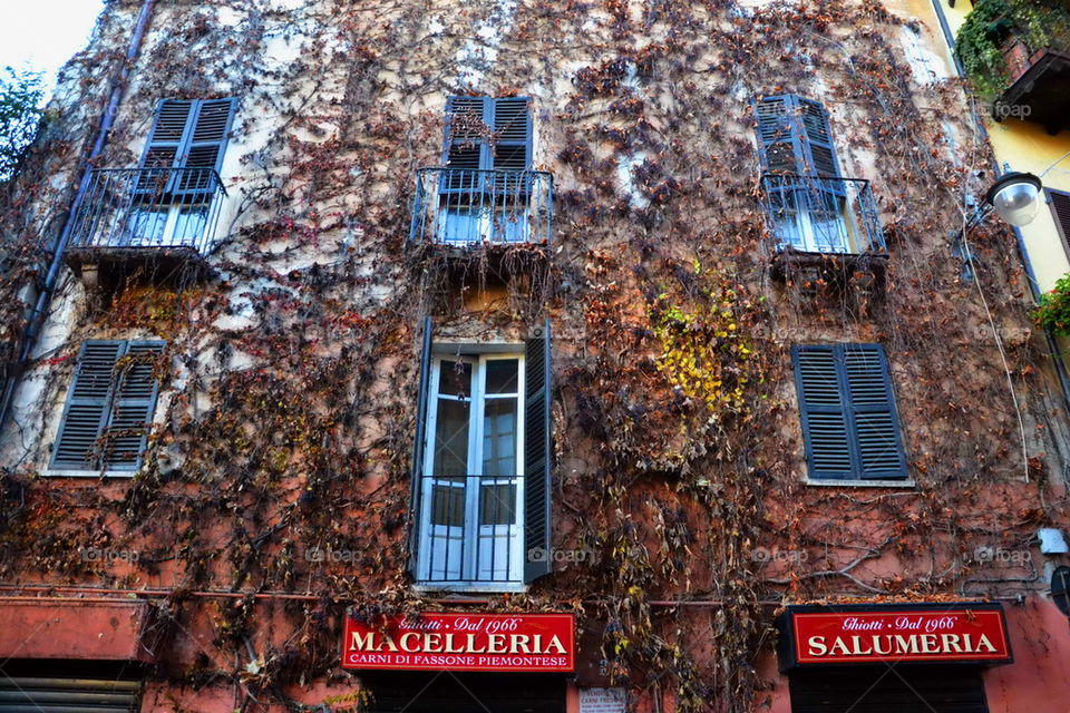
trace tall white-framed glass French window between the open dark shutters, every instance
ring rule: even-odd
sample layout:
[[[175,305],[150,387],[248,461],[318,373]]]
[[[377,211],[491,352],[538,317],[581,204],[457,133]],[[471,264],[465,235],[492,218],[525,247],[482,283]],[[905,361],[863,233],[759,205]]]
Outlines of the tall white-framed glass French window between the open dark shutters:
[[[524,577],[524,358],[431,364],[418,579],[519,584]]]

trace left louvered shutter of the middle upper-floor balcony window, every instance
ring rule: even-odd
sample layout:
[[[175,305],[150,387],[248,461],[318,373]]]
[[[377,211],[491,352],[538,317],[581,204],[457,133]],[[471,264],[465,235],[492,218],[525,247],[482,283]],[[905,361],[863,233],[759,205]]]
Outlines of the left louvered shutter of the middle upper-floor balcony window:
[[[447,172],[440,191],[466,193],[481,189],[479,169],[490,167],[489,133],[494,127],[492,99],[449,97],[446,100],[446,147],[442,163]]]

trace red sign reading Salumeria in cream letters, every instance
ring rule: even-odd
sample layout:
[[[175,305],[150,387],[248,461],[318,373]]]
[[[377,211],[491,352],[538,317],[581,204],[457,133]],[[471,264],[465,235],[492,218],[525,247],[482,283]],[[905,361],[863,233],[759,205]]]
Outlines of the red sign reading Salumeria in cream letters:
[[[796,664],[1011,661],[1001,608],[789,612]]]

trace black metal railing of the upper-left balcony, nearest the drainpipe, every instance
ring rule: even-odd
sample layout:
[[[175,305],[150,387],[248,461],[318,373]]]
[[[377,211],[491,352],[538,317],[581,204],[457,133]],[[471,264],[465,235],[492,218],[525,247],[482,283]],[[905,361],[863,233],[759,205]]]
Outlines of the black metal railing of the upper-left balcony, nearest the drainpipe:
[[[212,168],[95,168],[72,247],[192,247],[206,253],[226,189]]]

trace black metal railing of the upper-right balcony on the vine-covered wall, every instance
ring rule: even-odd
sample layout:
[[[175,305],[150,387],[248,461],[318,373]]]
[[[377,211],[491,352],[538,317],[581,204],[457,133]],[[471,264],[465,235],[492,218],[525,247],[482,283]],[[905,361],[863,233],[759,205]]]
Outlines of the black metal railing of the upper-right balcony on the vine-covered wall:
[[[761,188],[769,232],[780,250],[840,254],[887,250],[868,180],[766,174]]]

